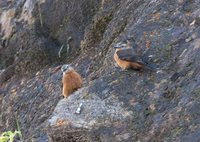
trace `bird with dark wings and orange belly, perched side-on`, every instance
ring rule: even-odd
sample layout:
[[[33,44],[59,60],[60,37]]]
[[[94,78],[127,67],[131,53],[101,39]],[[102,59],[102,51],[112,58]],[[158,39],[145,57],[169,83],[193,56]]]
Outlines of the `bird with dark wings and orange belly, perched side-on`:
[[[136,53],[136,47],[133,39],[127,39],[127,43],[118,43],[114,46],[114,60],[122,70],[133,69],[141,70],[143,68],[148,68],[153,70],[153,68],[148,65],[143,59],[142,56]]]

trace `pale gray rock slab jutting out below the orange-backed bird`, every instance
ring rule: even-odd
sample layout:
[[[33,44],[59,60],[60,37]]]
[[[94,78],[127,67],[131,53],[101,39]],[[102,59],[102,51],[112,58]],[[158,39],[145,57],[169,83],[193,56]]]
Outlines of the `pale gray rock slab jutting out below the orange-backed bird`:
[[[120,106],[120,102],[114,101],[108,104],[109,100],[101,100],[95,94],[87,94],[87,88],[82,88],[74,94],[61,100],[56,106],[53,116],[50,118],[50,126],[57,126],[59,120],[75,128],[85,128],[88,130],[98,129],[102,126],[110,126],[113,122],[123,121],[132,118],[132,111],[126,111]],[[82,103],[82,112],[76,114],[76,110]]]

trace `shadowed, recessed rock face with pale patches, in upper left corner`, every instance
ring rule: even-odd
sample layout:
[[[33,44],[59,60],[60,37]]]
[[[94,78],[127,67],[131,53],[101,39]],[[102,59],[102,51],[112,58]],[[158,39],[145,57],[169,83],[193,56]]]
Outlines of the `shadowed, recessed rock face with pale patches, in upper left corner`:
[[[6,69],[0,83],[14,74],[30,74],[47,65],[66,62],[78,54],[84,29],[98,8],[97,2],[1,2],[0,69],[12,67],[12,72]],[[72,40],[67,43],[69,37]],[[68,45],[70,49],[66,54]],[[64,49],[59,58],[61,46]]]

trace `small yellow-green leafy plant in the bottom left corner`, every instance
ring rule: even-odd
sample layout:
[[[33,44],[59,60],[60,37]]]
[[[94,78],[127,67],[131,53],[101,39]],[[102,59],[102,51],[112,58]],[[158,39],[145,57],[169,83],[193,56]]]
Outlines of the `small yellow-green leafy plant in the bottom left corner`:
[[[14,137],[16,135],[22,136],[20,131],[15,131],[14,133],[12,131],[4,132],[0,136],[0,142],[14,142]]]

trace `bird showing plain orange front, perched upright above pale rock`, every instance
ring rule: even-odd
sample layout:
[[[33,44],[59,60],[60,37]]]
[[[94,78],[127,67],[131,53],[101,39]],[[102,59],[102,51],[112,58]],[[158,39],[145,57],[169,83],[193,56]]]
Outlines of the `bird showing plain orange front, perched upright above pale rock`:
[[[82,78],[78,72],[76,72],[73,67],[69,64],[64,64],[61,67],[61,71],[63,72],[62,84],[63,84],[63,92],[62,95],[67,98],[74,91],[81,88],[83,85]]]

